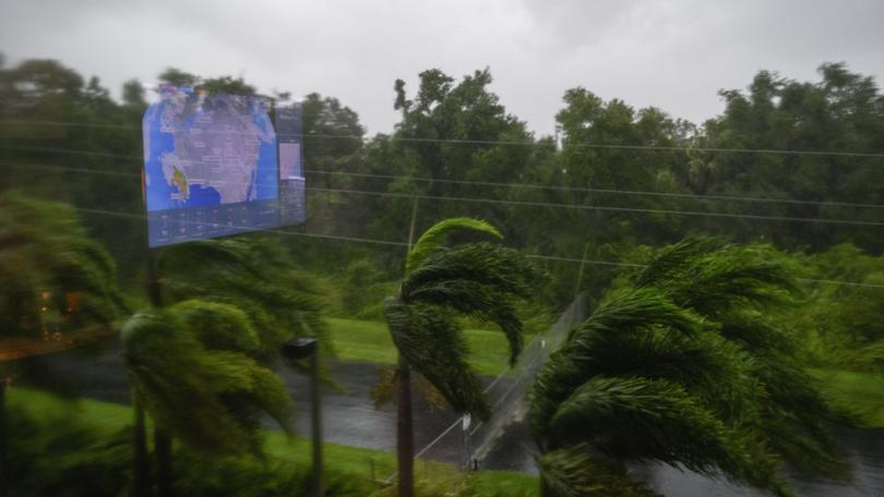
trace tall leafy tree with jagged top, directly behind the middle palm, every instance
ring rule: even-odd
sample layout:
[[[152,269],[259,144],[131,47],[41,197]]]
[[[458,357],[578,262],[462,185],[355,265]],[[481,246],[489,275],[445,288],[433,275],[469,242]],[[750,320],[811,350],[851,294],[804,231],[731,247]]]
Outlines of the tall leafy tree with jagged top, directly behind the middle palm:
[[[431,180],[410,185],[411,191],[482,197],[488,195],[487,185],[452,184],[445,180],[506,183],[524,177],[534,159],[534,136],[491,92],[493,78],[488,69],[474,71],[459,82],[431,69],[421,72],[419,80],[414,98],[406,95],[402,80],[394,86],[394,107],[402,112],[392,135],[397,168]],[[504,197],[509,195],[506,189],[498,191]],[[478,206],[470,204],[469,208],[476,211]],[[433,199],[421,206],[420,216],[429,225],[432,219],[463,216],[467,214],[464,210],[459,203]],[[482,217],[506,227],[513,214],[494,205],[486,206]],[[514,229],[507,235],[517,240],[522,234]]]

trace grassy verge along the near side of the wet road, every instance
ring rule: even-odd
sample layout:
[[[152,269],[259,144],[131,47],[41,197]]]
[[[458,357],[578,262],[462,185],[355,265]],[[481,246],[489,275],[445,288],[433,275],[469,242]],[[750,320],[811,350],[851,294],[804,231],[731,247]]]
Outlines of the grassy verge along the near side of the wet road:
[[[59,415],[76,417],[82,426],[103,437],[111,437],[131,425],[132,410],[127,405],[79,399],[60,400],[55,396],[27,388],[13,387],[9,390],[9,405],[20,409],[31,417],[45,422]],[[46,423],[40,423],[46,425]],[[14,436],[14,435],[13,435]],[[264,450],[267,462],[289,463],[308,468],[311,458],[311,441],[303,438],[288,438],[278,431],[266,431]],[[63,448],[56,448],[63,452]],[[60,453],[47,453],[60,456]],[[323,456],[326,468],[336,474],[353,475],[356,478],[385,478],[396,469],[394,453],[348,447],[338,444],[324,444]],[[529,475],[502,471],[480,471],[465,475],[453,464],[439,461],[417,461],[415,473],[421,495],[468,495],[522,497],[536,495],[537,478]],[[454,493],[452,493],[454,492]],[[379,497],[393,496],[391,488],[379,490]]]

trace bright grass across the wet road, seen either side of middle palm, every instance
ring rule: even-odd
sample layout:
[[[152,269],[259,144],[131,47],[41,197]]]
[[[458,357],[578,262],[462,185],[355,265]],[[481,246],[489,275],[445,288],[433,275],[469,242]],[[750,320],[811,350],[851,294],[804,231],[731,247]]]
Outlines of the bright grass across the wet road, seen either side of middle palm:
[[[396,348],[386,324],[360,319],[330,318],[332,342],[342,361],[394,364]],[[497,376],[509,365],[509,346],[500,331],[467,329],[469,361],[480,375]]]

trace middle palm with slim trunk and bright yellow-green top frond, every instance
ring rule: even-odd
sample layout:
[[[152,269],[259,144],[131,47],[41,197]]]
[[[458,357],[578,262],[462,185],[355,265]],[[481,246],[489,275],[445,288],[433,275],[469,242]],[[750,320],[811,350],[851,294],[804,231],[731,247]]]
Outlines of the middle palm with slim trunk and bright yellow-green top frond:
[[[398,349],[397,453],[399,496],[414,495],[414,427],[410,372],[419,372],[456,411],[487,420],[491,412],[478,375],[467,362],[457,316],[497,324],[511,362],[522,350],[518,299],[531,295],[542,277],[517,251],[492,243],[446,246],[457,232],[502,238],[485,221],[452,218],[427,230],[408,252],[398,296],[384,301],[384,316]]]

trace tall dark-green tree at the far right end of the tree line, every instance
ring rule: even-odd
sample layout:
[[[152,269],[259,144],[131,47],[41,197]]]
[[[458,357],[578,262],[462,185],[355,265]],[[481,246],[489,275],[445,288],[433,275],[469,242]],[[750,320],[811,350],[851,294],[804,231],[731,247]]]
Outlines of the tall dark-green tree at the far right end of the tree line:
[[[767,204],[756,214],[876,220],[874,209],[825,203],[880,203],[882,191],[873,185],[882,184],[882,159],[861,154],[884,153],[877,140],[884,133],[884,95],[871,76],[852,73],[844,63],[822,64],[819,73],[821,81],[799,82],[760,71],[745,90],[720,92],[725,111],[705,123],[697,142],[718,151],[696,156],[695,170],[703,180],[692,187],[697,193],[799,201]],[[733,148],[762,151],[728,151]],[[712,222],[702,227],[714,229]],[[822,248],[853,241],[867,250],[882,248],[880,237],[853,227],[744,221],[731,229],[791,246]]]

